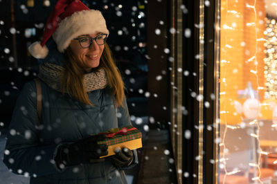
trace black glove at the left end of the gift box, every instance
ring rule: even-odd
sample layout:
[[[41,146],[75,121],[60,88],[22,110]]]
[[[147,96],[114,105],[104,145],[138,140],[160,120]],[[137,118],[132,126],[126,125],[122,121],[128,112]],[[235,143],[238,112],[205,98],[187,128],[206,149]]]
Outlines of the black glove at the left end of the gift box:
[[[62,145],[57,149],[55,162],[60,169],[64,166],[78,165],[80,163],[99,163],[105,158],[99,158],[108,154],[108,146],[97,144],[104,140],[105,135],[93,135],[82,140],[78,140],[69,145]]]

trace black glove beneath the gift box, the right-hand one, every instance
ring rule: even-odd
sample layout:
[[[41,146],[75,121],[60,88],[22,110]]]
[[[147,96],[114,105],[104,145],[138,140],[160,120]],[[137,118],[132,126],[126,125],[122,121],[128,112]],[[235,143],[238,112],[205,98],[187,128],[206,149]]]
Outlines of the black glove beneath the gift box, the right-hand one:
[[[133,159],[133,151],[128,149],[127,147],[122,147],[121,149],[115,150],[116,154],[111,156],[111,163],[116,167],[126,167],[129,166]]]

